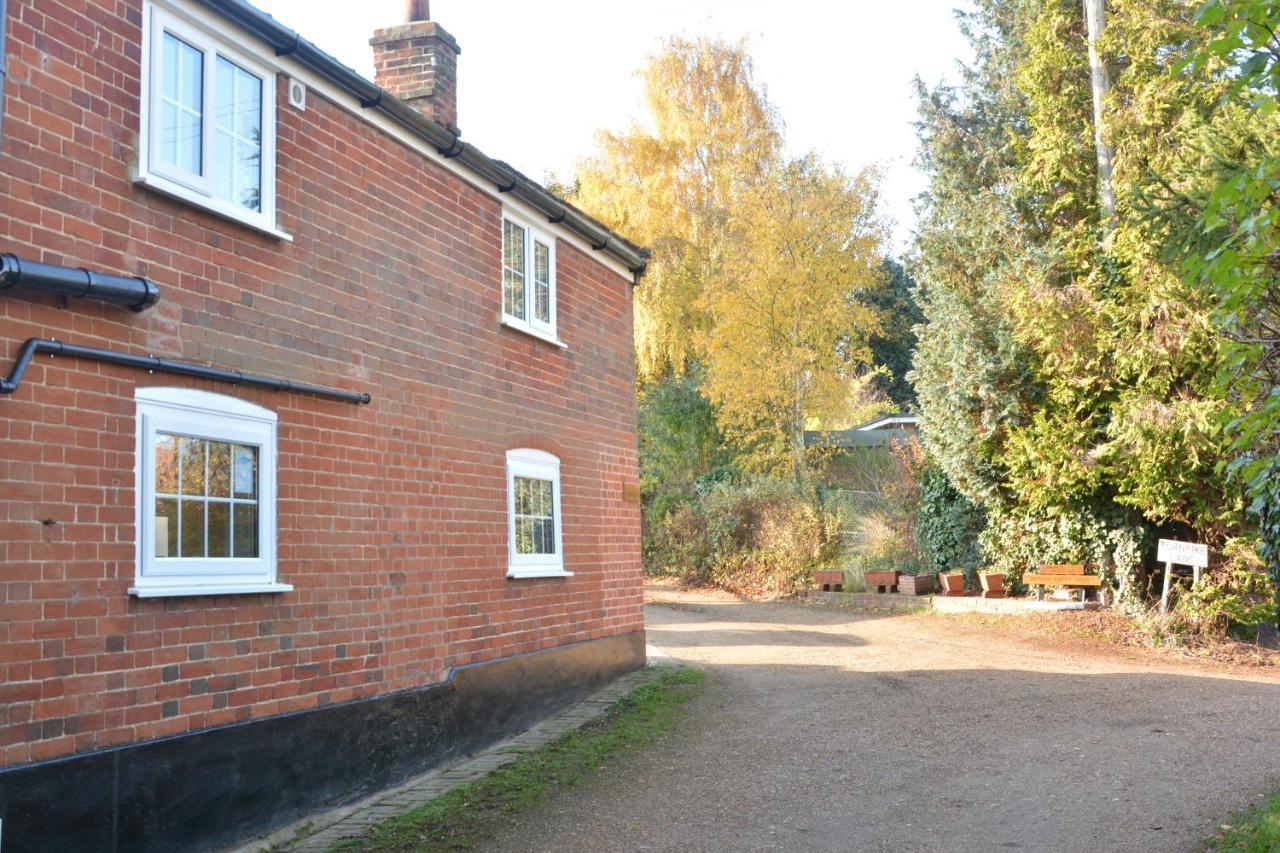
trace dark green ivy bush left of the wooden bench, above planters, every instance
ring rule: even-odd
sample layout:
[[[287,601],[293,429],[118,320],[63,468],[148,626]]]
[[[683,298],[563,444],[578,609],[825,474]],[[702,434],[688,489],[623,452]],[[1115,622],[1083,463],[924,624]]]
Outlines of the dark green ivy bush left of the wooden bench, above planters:
[[[987,526],[987,514],[960,494],[937,465],[920,475],[920,506],[915,538],[931,571],[963,570],[974,583],[982,562],[978,537]]]

